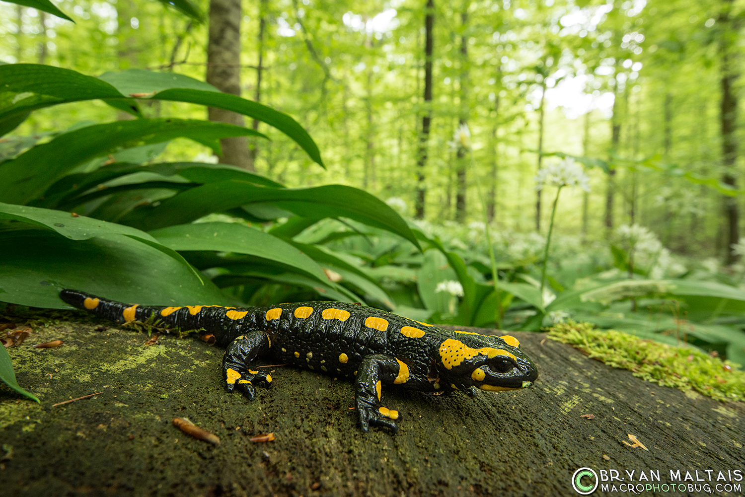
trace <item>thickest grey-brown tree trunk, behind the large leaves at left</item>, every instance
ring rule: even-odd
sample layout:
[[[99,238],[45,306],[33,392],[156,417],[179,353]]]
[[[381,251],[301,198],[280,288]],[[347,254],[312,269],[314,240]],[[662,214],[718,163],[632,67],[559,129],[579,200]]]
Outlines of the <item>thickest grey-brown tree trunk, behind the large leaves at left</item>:
[[[222,92],[241,95],[241,0],[209,1],[209,39],[207,41],[207,83]],[[243,115],[209,107],[209,120],[244,125]],[[222,164],[253,171],[245,136],[220,140]]]

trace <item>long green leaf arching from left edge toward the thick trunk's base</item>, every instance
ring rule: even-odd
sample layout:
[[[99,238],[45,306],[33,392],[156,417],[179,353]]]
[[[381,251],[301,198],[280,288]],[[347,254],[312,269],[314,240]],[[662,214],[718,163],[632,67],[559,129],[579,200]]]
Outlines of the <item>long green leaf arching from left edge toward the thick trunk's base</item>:
[[[208,145],[219,153],[218,139],[246,135],[263,136],[244,127],[195,119],[137,119],[83,127],[0,164],[0,185],[4,186],[0,200],[27,203],[76,165],[122,148],[165,142],[181,136]]]

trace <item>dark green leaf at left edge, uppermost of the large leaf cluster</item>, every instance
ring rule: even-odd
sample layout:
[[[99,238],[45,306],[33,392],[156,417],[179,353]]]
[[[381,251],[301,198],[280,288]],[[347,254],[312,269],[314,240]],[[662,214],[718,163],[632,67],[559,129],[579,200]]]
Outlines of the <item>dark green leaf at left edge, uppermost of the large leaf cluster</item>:
[[[98,77],[40,64],[2,65],[0,81],[0,136],[22,122],[19,115],[31,110],[94,98],[125,98]]]

